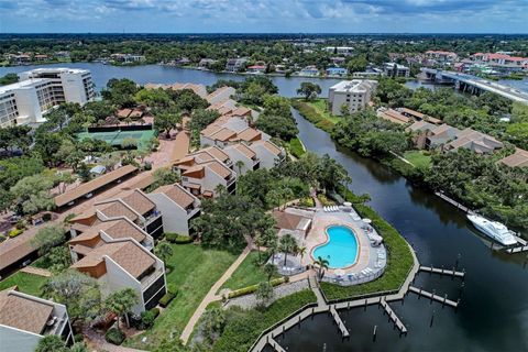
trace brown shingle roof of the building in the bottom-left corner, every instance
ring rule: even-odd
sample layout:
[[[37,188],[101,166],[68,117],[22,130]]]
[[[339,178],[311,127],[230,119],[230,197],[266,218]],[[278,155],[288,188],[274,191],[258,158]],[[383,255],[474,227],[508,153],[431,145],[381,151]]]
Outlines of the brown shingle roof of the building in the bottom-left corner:
[[[0,294],[0,324],[41,334],[53,312],[53,305],[33,300],[12,289]]]

